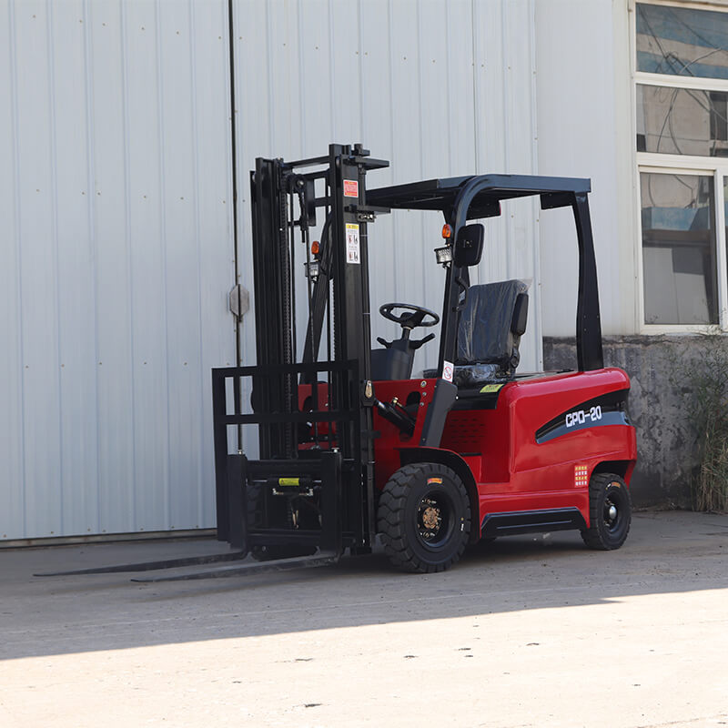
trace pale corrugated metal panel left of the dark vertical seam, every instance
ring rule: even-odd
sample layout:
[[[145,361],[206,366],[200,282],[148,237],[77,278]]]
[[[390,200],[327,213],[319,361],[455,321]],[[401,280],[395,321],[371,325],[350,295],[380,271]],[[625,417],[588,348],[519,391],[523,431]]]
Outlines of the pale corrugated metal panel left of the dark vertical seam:
[[[214,522],[227,2],[0,3],[0,539]]]

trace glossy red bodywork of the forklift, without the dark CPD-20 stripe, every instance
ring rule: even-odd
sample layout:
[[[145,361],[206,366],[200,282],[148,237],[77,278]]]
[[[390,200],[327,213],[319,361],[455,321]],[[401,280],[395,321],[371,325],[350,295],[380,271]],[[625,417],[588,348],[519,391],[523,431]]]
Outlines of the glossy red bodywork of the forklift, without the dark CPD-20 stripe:
[[[374,429],[381,433],[375,440],[379,489],[399,468],[399,450],[418,446],[434,385],[434,379],[376,382],[382,401],[397,397],[405,404],[420,394],[410,438],[375,410]],[[491,513],[573,507],[589,524],[591,471],[602,462],[620,460],[627,463],[629,484],[637,458],[634,428],[597,424],[541,443],[536,442],[536,430],[585,401],[629,386],[622,369],[543,375],[503,385],[495,409],[451,410],[441,449],[458,453],[470,467],[478,490],[479,527]]]

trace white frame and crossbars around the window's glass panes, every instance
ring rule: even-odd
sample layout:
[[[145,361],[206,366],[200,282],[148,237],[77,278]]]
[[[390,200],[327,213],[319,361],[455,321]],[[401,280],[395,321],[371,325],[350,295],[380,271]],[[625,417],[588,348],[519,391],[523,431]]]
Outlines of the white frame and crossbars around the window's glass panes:
[[[671,88],[688,88],[699,91],[722,91],[728,94],[728,79],[705,78],[698,76],[675,76],[672,74],[652,74],[637,70],[637,3],[643,5],[663,5],[669,7],[689,8],[692,10],[724,11],[725,5],[707,5],[705,3],[676,2],[673,0],[629,0],[632,13],[632,150],[636,164],[633,165],[634,189],[637,192],[637,329],[642,334],[659,335],[675,333],[700,333],[714,331],[716,326],[722,332],[728,332],[728,254],[726,253],[725,230],[725,189],[728,180],[728,157],[693,157],[689,155],[661,154],[657,152],[636,151],[636,119],[637,119],[637,86],[665,86]],[[642,247],[642,197],[640,175],[642,172],[652,174],[713,176],[715,195],[715,264],[718,294],[717,324],[649,324],[644,320],[644,256]]]

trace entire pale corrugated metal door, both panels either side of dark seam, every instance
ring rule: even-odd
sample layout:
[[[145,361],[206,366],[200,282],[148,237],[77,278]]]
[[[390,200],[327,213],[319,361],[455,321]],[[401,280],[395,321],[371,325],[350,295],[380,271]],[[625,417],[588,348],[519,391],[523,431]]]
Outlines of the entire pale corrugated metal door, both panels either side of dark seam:
[[[372,187],[537,171],[533,0],[232,2],[248,288],[257,156],[362,141],[392,163]],[[209,369],[235,356],[227,40],[226,0],[0,0],[0,539],[214,524]],[[532,369],[537,210],[519,213],[487,222],[476,278],[534,278]],[[440,224],[379,219],[374,306],[440,309]],[[252,315],[241,349],[251,362]]]

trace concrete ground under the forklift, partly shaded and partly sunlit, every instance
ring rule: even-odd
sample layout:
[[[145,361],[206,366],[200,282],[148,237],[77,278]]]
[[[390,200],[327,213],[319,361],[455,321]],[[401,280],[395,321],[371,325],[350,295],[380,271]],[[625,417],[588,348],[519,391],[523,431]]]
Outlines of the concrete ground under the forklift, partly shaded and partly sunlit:
[[[728,516],[641,513],[620,551],[502,539],[212,581],[35,571],[215,541],[0,551],[0,726],[728,725]]]

